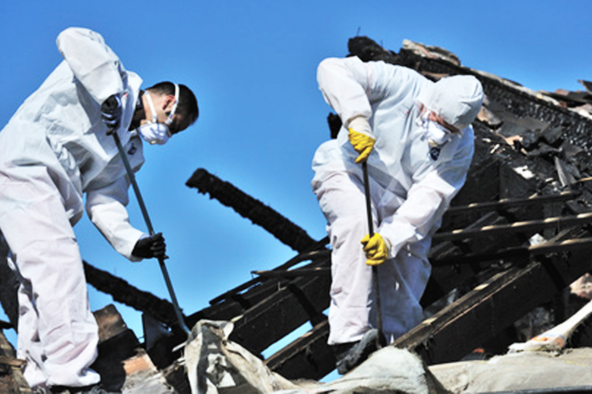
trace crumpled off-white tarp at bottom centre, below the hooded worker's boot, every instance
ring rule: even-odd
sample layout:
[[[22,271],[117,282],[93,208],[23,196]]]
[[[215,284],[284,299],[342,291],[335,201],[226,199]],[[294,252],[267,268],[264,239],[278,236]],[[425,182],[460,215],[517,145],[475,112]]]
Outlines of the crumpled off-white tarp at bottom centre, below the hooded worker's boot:
[[[333,382],[296,385],[229,341],[232,328],[226,321],[201,320],[191,330],[185,344],[185,366],[192,393],[445,392],[419,357],[392,346],[375,352]]]

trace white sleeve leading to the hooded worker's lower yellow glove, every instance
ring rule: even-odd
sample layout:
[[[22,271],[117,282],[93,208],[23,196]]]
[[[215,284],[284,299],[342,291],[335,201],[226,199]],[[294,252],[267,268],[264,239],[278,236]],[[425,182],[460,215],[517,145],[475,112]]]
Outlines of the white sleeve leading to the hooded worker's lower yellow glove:
[[[385,218],[377,232],[390,243],[394,258],[407,243],[430,235],[466,180],[474,151],[472,131],[459,146],[454,157],[433,168],[422,180],[413,184],[407,199],[391,217]]]

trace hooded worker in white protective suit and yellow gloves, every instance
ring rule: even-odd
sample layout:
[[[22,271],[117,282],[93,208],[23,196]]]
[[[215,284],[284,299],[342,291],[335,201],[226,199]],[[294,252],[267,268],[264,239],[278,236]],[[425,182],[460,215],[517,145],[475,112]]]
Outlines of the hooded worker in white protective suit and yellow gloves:
[[[406,67],[358,57],[323,60],[317,79],[343,123],[337,138],[317,149],[312,181],[333,249],[329,344],[343,374],[376,346],[371,265],[384,339],[391,343],[422,319],[430,235],[464,184],[474,149],[470,123],[483,92],[472,76],[434,83]]]

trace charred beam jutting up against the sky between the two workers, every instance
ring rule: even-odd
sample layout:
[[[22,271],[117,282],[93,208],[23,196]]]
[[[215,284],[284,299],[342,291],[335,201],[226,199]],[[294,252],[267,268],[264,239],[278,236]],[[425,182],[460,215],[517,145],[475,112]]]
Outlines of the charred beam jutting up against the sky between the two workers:
[[[232,184],[198,168],[186,182],[188,187],[197,188],[199,193],[209,193],[223,205],[231,207],[240,216],[263,227],[290,248],[303,252],[316,242],[308,234],[261,201],[249,196]]]

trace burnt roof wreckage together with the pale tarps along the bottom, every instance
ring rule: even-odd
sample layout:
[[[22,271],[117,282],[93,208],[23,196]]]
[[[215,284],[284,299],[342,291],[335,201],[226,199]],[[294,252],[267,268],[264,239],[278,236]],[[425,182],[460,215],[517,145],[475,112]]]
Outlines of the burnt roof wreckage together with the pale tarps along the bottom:
[[[580,80],[584,90],[577,92],[536,92],[463,66],[448,50],[409,40],[396,53],[354,37],[348,50],[363,61],[411,67],[432,80],[471,74],[484,87],[465,187],[433,237],[432,277],[421,300],[424,321],[358,369],[317,383],[334,369],[324,314],[328,239],[312,239],[271,207],[200,168],[188,187],[262,226],[297,255],[272,271],[256,271],[252,280],[187,315],[185,323],[194,327],[189,341],[175,326],[168,301],[85,263],[89,284],[144,314],[140,343],[113,305],[95,312],[104,322],[95,365],[104,382],[130,393],[189,392],[191,386],[194,392],[198,386],[208,392],[590,390],[587,314],[570,326],[571,335],[555,353],[506,353],[512,344],[563,327],[558,324],[592,298],[592,83]],[[339,118],[329,114],[327,121],[334,136]],[[14,282],[2,272],[0,301],[14,324]],[[260,355],[305,323],[312,327],[306,334],[268,359]],[[8,343],[2,338],[0,344]],[[200,349],[210,352],[210,364],[200,363]],[[18,366],[10,364],[19,361],[14,349],[8,344],[0,350],[0,383],[12,385],[11,392],[30,392]],[[233,359],[236,354],[242,354],[242,364]],[[398,357],[404,367],[393,363]],[[263,377],[271,386],[255,383]]]

